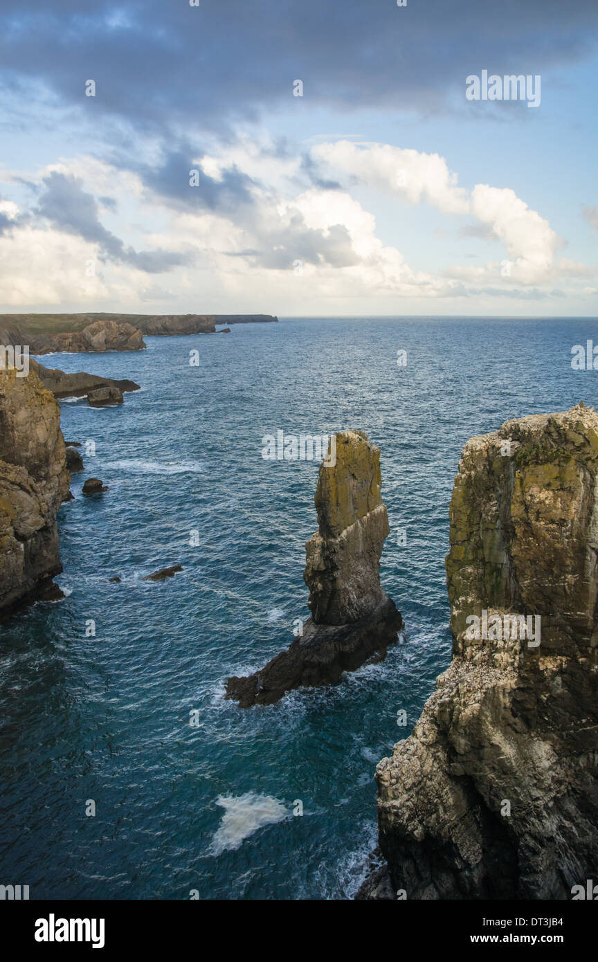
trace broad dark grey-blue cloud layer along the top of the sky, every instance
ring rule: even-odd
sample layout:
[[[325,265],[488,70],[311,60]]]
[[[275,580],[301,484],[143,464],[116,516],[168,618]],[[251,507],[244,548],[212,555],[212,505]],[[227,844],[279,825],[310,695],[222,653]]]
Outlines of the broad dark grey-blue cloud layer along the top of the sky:
[[[0,73],[167,137],[281,106],[435,111],[468,73],[588,57],[597,26],[595,0],[4,0]]]

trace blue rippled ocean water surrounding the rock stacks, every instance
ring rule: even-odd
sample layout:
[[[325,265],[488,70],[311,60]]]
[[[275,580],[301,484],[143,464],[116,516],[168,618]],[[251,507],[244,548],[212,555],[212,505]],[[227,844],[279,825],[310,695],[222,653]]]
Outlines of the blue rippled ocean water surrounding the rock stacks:
[[[461,447],[508,418],[594,405],[595,373],[570,364],[594,332],[294,318],[40,359],[142,390],[117,408],[62,401],[65,438],[95,456],[59,516],[67,597],[0,626],[0,880],[32,899],[351,898],[376,844],[376,763],[450,660],[443,560]],[[240,710],[226,678],[262,667],[308,617],[316,528],[317,464],[263,460],[262,436],[350,427],[382,448],[382,578],[405,637],[333,688]],[[110,491],[83,497],[93,475]],[[172,579],[141,580],[174,564]]]

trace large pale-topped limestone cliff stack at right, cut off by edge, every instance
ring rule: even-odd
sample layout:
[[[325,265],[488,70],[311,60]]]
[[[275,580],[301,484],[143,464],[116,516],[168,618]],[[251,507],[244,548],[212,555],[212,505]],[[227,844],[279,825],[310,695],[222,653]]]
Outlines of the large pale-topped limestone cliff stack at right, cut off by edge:
[[[450,519],[453,659],[378,766],[358,898],[572,899],[598,873],[596,413],[473,438]]]

